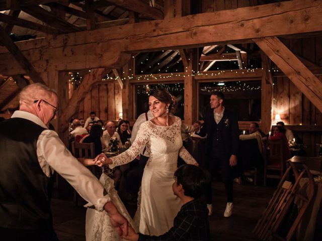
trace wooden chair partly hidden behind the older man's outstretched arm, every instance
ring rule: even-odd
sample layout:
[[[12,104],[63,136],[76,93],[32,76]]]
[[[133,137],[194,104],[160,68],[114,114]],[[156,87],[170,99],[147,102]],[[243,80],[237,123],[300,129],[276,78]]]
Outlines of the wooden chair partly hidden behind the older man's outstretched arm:
[[[95,158],[95,147],[94,143],[71,143],[71,152],[75,158]],[[89,167],[91,172],[95,175],[95,167]],[[78,193],[76,190],[73,191],[73,199],[75,206],[78,206]]]

